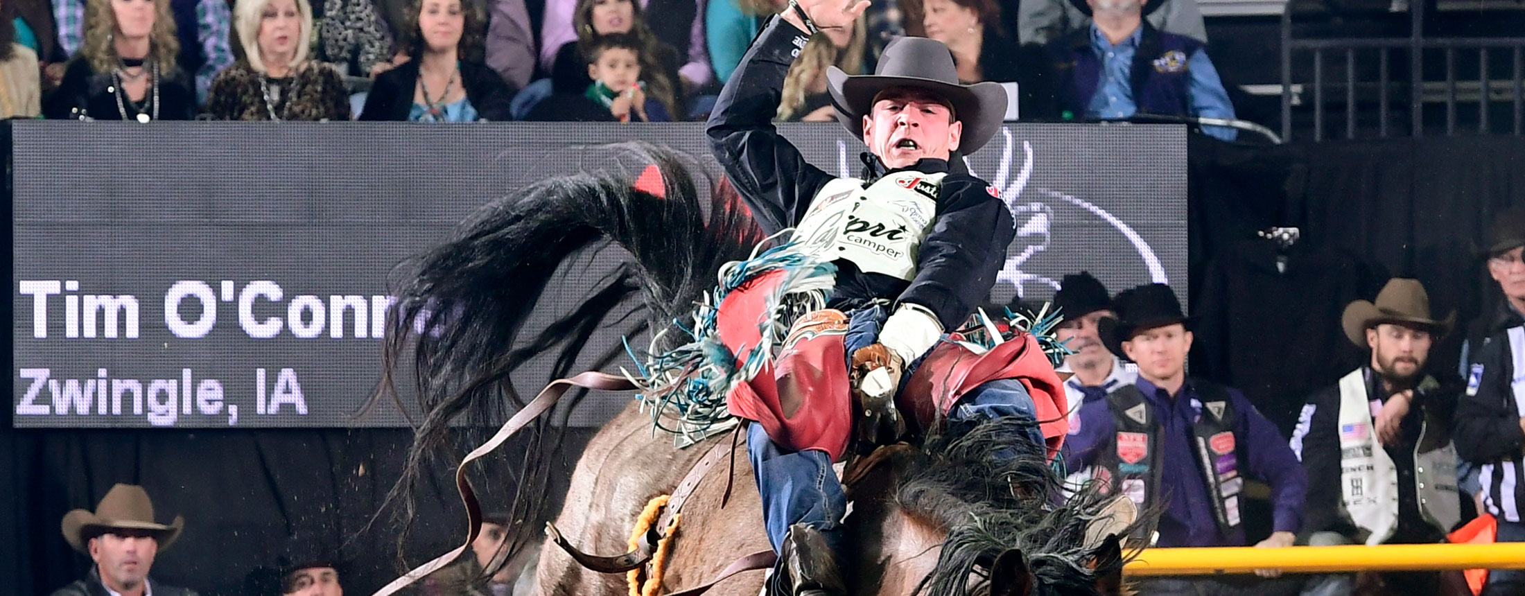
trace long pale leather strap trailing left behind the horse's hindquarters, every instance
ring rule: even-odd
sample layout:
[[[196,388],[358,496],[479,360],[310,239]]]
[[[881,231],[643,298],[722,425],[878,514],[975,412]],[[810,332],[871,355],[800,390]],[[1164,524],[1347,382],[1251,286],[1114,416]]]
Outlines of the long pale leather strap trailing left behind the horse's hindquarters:
[[[461,492],[461,501],[467,506],[465,543],[444,555],[436,556],[433,561],[415,567],[412,572],[404,573],[390,584],[383,585],[381,590],[377,590],[372,596],[390,596],[398,590],[424,579],[430,573],[438,572],[441,567],[454,562],[456,558],[471,547],[471,543],[476,541],[479,534],[482,534],[482,503],[477,501],[476,491],[471,489],[471,482],[467,479],[467,465],[502,447],[511,436],[528,427],[529,422],[534,422],[534,419],[540,418],[540,415],[546,413],[546,410],[551,410],[551,407],[555,405],[557,401],[560,401],[561,396],[572,387],[599,389],[607,392],[627,392],[637,389],[634,383],[624,377],[605,375],[602,372],[584,372],[572,378],[555,380],[546,386],[546,389],[540,390],[540,395],[537,395],[535,399],[531,399],[523,409],[514,413],[508,422],[503,422],[503,425],[499,427],[497,434],[493,434],[493,437],[485,444],[471,450],[471,453],[468,453],[456,468],[456,489]]]

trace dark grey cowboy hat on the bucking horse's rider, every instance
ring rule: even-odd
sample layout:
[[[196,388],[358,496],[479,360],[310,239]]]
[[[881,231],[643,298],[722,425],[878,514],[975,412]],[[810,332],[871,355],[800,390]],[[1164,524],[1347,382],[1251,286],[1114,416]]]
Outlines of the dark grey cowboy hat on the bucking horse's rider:
[[[837,108],[837,120],[860,139],[863,116],[874,108],[874,98],[892,87],[927,90],[953,104],[953,117],[964,122],[958,149],[965,155],[985,146],[1006,116],[1006,88],[999,82],[959,84],[953,53],[938,40],[891,40],[872,75],[852,76],[834,66],[827,69],[827,88]]]

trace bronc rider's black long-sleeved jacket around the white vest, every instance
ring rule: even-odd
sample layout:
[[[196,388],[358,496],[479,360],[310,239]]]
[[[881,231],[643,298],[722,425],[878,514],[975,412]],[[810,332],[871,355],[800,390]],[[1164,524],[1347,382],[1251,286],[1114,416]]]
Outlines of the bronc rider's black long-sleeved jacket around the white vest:
[[[795,145],[773,128],[784,75],[791,52],[805,47],[807,35],[773,18],[741,56],[709,116],[715,159],[767,233],[799,224],[811,200],[834,177],[805,162]],[[866,157],[868,181],[888,174]],[[921,241],[917,276],[907,284],[878,273],[862,273],[837,261],[834,308],[856,308],[872,299],[895,299],[926,306],[944,329],[955,329],[985,300],[996,273],[1006,262],[1016,227],[1006,204],[987,192],[988,183],[970,175],[961,159],[924,159],[907,169],[949,172],[936,200],[936,223]]]

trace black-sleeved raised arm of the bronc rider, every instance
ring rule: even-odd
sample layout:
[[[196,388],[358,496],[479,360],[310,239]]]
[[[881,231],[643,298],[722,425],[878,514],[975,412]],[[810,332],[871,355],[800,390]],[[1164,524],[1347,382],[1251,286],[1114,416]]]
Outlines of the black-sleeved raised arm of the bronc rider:
[[[793,227],[831,180],[805,163],[773,128],[788,66],[805,47],[804,30],[772,18],[726,81],[709,116],[709,146],[767,233]]]

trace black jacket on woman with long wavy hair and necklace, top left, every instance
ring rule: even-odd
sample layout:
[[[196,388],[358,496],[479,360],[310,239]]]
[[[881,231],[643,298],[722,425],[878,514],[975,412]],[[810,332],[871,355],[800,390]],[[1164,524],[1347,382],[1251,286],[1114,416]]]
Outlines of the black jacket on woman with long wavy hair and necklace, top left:
[[[189,120],[195,117],[195,90],[185,70],[169,70],[160,76],[163,81],[159,81],[159,119]],[[152,93],[152,87],[149,87],[149,93]],[[128,119],[136,116],[131,107],[125,108]],[[90,61],[75,58],[64,70],[64,79],[58,88],[43,101],[43,117],[78,120],[81,116],[95,120],[120,120],[122,107],[117,105],[111,73],[98,73],[90,67]]]

